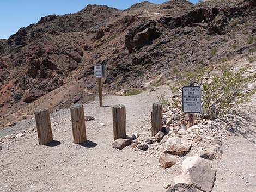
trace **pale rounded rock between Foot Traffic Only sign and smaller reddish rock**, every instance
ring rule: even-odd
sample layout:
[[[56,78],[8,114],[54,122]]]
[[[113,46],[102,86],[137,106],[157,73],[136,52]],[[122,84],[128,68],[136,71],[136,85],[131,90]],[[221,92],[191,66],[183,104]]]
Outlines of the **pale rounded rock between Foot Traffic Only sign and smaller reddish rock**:
[[[168,152],[187,152],[191,148],[191,143],[185,138],[173,137],[169,138],[165,144],[166,151]]]

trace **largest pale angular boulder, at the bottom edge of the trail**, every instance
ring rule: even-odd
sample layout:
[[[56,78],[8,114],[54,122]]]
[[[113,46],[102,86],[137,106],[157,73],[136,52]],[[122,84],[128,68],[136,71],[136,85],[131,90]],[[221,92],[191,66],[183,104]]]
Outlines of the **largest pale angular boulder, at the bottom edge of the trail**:
[[[186,183],[197,189],[211,192],[214,187],[216,170],[211,168],[208,160],[196,157],[188,157],[182,163],[183,174],[177,176],[175,183]]]

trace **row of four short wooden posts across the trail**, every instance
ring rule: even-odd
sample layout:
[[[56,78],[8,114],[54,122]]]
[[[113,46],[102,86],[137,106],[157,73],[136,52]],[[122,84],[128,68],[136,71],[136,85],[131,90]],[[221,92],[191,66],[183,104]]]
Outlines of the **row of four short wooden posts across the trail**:
[[[86,142],[86,123],[83,104],[74,104],[70,107],[73,140],[75,144]],[[112,107],[114,140],[126,138],[126,111],[124,105]],[[152,136],[162,131],[163,107],[161,103],[153,103],[151,112]],[[52,128],[50,113],[47,108],[35,109],[36,129],[40,145],[52,143]]]

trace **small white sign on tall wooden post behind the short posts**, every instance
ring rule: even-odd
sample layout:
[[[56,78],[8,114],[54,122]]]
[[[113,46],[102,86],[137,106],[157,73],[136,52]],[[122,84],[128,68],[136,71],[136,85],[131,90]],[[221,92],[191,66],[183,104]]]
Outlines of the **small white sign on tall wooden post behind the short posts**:
[[[105,65],[95,65],[94,66],[94,76],[97,78],[97,84],[99,89],[99,100],[100,107],[103,106],[103,98],[102,98],[102,78],[105,77]]]

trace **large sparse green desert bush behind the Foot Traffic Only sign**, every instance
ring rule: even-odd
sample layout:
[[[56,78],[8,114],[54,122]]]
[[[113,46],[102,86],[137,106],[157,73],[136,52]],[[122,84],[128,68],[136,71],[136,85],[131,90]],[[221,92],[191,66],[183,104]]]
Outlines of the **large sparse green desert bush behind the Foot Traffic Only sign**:
[[[227,114],[230,109],[239,103],[248,101],[251,92],[245,92],[249,82],[255,81],[253,77],[245,77],[245,68],[236,72],[231,71],[227,63],[221,64],[217,69],[206,66],[192,72],[175,72],[175,83],[168,84],[173,93],[172,102],[167,102],[164,96],[159,97],[160,102],[169,104],[171,108],[181,110],[182,86],[201,86],[202,88],[202,119],[214,119]]]

